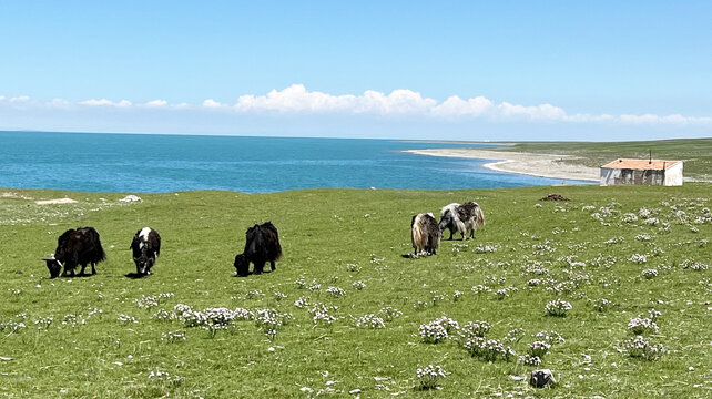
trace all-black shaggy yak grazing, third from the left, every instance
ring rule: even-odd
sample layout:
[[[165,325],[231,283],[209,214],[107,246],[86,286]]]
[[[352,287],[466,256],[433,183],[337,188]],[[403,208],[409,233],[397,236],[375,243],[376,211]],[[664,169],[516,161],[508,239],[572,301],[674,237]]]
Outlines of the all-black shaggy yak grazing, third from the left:
[[[265,263],[269,262],[272,272],[275,270],[275,260],[282,257],[282,246],[277,228],[266,222],[247,228],[245,233],[245,250],[235,256],[237,276],[245,277],[250,274],[250,263],[255,265],[253,274],[262,274]]]

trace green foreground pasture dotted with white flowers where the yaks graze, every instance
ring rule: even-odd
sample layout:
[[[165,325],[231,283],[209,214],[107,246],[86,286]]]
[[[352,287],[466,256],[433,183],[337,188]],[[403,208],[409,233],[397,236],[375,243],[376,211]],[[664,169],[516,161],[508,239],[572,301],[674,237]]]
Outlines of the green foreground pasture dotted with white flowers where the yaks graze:
[[[191,192],[132,204],[123,194],[4,192],[0,396],[712,396],[709,184]],[[550,193],[571,201],[539,201]],[[30,200],[63,196],[79,202]],[[465,201],[487,218],[474,241],[401,256],[413,250],[411,215]],[[279,229],[277,270],[233,277],[245,229],[264,221]],[[40,258],[87,225],[108,253],[99,274],[49,279]],[[131,238],[146,225],[163,237],[162,257],[151,277],[126,278]],[[571,304],[564,317],[545,310],[556,299]],[[203,311],[215,307],[230,313]],[[451,320],[431,323],[443,316]],[[648,348],[664,347],[657,360],[624,345],[638,317]],[[467,325],[478,320],[490,326],[488,345],[474,337],[485,324]],[[537,368],[526,364],[532,342],[547,339],[539,367],[558,383],[535,389],[521,377]],[[516,355],[505,359],[497,344]],[[447,375],[418,389],[416,370],[429,364]]]

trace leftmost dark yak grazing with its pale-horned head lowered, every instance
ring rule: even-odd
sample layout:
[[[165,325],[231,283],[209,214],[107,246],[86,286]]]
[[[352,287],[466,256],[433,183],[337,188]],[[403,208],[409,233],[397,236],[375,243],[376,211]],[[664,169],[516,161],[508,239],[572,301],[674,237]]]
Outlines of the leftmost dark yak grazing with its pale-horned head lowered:
[[[106,254],[101,247],[99,233],[94,227],[78,227],[77,229],[70,228],[59,236],[52,257],[42,260],[47,262],[51,278],[55,278],[60,275],[62,266],[64,266],[62,277],[67,277],[68,273],[70,277],[74,277],[77,265],[82,265],[79,275],[84,275],[88,264],[91,264],[91,274],[95,275],[96,268],[94,266],[105,258]]]

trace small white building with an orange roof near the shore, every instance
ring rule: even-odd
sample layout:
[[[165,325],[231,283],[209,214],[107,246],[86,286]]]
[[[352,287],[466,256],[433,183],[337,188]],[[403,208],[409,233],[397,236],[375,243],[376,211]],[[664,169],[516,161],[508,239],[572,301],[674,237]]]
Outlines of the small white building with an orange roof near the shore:
[[[616,160],[601,166],[601,185],[682,185],[682,161]]]

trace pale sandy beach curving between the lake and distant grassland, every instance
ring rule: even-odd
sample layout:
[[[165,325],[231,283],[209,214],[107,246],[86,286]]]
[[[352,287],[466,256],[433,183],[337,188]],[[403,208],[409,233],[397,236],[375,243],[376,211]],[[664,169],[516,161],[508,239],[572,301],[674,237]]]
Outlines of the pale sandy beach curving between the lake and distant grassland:
[[[597,167],[572,165],[561,162],[566,158],[573,158],[574,156],[571,155],[535,154],[480,149],[431,149],[407,150],[406,152],[428,156],[494,160],[496,162],[486,163],[484,166],[499,172],[561,180],[599,181],[599,170]]]

